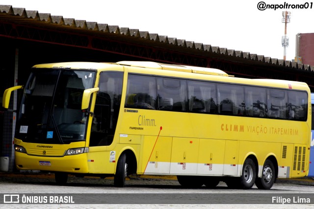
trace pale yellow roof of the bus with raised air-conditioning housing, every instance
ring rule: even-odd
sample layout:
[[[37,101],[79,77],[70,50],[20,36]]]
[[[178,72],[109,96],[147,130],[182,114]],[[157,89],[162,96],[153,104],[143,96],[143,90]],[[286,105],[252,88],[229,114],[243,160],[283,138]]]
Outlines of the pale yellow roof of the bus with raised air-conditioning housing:
[[[149,61],[121,61],[117,63],[96,63],[96,62],[63,62],[63,63],[48,63],[48,64],[38,64],[33,66],[33,68],[60,68],[60,69],[78,69],[78,70],[105,70],[108,68],[113,68],[114,70],[124,70],[125,67],[132,68],[132,71],[137,71],[141,73],[152,73],[155,74],[169,74],[169,72],[178,72],[177,76],[185,78],[195,78],[213,81],[223,81],[237,84],[248,84],[256,86],[269,86],[284,89],[299,89],[309,91],[309,87],[304,82],[298,81],[288,81],[288,80],[277,80],[277,79],[248,79],[248,78],[232,78],[234,76],[228,75],[226,72],[218,69],[212,68],[201,68],[195,66],[185,66],[185,65],[172,65],[172,64],[162,64],[157,62]],[[121,69],[119,68],[122,67]],[[147,70],[146,70],[147,69]],[[158,72],[158,70],[162,70]],[[155,72],[154,72],[155,71]],[[183,74],[184,75],[183,75]],[[185,74],[186,73],[186,74]],[[189,74],[191,73],[191,74]],[[176,74],[176,73],[175,73]],[[172,76],[176,76],[172,74]],[[170,75],[170,74],[169,74]],[[208,77],[207,76],[214,76]]]

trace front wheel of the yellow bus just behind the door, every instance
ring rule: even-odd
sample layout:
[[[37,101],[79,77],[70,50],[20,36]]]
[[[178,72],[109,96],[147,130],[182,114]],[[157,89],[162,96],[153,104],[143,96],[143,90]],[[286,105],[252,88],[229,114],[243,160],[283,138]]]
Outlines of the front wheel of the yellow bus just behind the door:
[[[123,187],[126,182],[128,171],[127,155],[123,153],[118,160],[116,174],[114,175],[114,186]]]

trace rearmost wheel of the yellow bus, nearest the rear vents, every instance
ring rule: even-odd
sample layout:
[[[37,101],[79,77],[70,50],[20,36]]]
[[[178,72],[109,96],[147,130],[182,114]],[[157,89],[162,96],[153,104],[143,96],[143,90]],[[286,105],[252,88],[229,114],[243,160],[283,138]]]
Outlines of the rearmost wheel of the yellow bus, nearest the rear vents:
[[[257,178],[255,185],[259,189],[270,189],[276,178],[274,164],[270,160],[266,160],[262,171],[262,178]]]

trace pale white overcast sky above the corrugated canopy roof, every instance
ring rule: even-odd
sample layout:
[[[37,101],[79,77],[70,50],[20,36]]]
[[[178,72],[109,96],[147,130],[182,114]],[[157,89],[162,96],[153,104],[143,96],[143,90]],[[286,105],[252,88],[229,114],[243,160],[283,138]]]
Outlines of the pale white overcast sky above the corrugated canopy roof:
[[[288,11],[287,60],[295,57],[296,35],[314,33],[314,0],[0,0],[0,5],[277,59],[284,58],[282,12]]]

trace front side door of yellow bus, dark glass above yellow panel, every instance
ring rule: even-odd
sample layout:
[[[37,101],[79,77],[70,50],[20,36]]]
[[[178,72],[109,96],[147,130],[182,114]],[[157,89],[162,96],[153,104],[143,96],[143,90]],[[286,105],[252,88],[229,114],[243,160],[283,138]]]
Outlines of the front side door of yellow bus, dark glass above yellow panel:
[[[123,84],[123,72],[105,71],[100,73],[99,91],[93,110],[93,118],[90,127],[88,162],[89,171],[113,173],[115,152],[109,150],[113,143],[117,126],[121,94]]]

